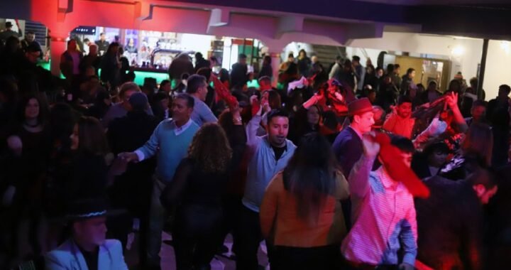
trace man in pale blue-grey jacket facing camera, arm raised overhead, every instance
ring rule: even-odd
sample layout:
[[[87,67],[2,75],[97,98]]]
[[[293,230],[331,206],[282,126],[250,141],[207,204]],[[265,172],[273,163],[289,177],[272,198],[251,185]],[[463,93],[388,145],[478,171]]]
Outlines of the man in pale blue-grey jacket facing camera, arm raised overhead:
[[[280,109],[268,113],[268,135],[256,136],[261,121],[263,107],[268,112],[268,104],[261,109],[247,126],[248,151],[253,156],[248,161],[243,209],[239,226],[239,247],[236,252],[236,269],[258,269],[257,252],[263,236],[260,232],[259,207],[265,189],[273,176],[287,166],[295,153],[295,144],[286,139],[289,131],[289,117]]]

